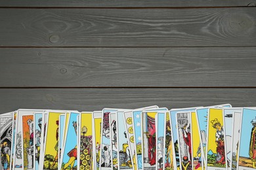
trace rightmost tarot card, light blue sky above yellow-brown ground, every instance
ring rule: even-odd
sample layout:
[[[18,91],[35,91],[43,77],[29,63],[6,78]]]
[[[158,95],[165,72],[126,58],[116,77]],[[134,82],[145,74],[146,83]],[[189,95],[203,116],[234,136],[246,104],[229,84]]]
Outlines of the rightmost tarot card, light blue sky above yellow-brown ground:
[[[238,170],[256,169],[256,109],[244,108],[238,144]]]

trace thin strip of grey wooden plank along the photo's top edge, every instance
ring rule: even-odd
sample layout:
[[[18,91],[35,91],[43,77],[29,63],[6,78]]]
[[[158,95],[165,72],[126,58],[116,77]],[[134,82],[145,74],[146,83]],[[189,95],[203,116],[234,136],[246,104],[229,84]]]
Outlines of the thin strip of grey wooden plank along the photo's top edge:
[[[255,6],[255,0],[1,0],[1,7],[237,7]]]

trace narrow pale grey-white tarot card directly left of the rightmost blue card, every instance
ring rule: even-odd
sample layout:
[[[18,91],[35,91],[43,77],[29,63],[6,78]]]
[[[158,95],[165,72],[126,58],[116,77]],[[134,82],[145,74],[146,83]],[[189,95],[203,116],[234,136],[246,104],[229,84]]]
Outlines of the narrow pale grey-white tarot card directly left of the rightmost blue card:
[[[242,109],[233,114],[233,132],[232,132],[232,170],[238,166],[238,145],[240,140],[240,127],[242,120]]]

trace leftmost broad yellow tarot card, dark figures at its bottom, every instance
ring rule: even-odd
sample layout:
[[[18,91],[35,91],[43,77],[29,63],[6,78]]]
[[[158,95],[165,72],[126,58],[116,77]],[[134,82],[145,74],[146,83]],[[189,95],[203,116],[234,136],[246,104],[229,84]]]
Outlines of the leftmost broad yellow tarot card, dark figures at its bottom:
[[[45,143],[44,143],[44,152],[42,165],[43,169],[58,169],[58,128],[59,128],[59,117],[65,112],[48,112],[47,126],[45,129]]]

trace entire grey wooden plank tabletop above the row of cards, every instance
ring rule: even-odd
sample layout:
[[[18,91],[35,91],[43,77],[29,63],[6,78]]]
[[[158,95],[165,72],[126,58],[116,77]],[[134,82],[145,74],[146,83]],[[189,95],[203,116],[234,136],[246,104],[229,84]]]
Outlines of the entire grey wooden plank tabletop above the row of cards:
[[[0,112],[256,106],[256,0],[1,0]]]

